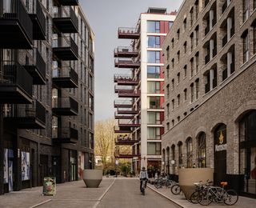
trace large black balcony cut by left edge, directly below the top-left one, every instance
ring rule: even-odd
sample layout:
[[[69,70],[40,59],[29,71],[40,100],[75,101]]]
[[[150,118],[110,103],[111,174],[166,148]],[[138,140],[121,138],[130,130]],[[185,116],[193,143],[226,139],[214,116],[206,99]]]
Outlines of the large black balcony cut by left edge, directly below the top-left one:
[[[18,62],[0,62],[0,103],[31,103],[33,78]]]

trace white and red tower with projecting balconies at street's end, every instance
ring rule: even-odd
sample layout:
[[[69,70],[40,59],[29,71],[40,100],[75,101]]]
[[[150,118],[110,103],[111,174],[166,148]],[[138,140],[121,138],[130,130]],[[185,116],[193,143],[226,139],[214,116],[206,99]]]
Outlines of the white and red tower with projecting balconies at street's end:
[[[131,39],[130,47],[114,50],[115,67],[125,70],[115,74],[118,100],[117,146],[132,146],[130,152],[118,148],[116,158],[132,158],[133,170],[141,166],[161,168],[161,138],[164,133],[162,42],[174,21],[174,13],[149,8],[142,13],[136,28],[119,28],[118,38]]]

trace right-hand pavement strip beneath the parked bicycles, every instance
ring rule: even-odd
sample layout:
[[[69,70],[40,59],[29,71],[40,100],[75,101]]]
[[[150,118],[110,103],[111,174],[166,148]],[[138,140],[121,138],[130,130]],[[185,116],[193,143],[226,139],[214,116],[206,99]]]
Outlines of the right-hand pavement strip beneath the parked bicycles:
[[[156,189],[154,185],[149,184],[147,185],[151,190],[156,191],[158,194],[161,194],[163,197],[168,198],[170,201],[174,202],[178,206],[181,206],[183,208],[193,208],[193,207],[203,207],[201,205],[196,205],[191,202],[188,202],[184,195],[174,195],[170,192],[170,189],[166,188],[161,188],[161,189]],[[224,206],[226,206],[224,204]],[[223,207],[222,204],[216,204],[216,203],[211,203],[210,207]],[[246,198],[246,197],[241,197],[239,196],[238,202],[232,206],[232,207],[238,207],[238,208],[255,208],[256,207],[256,199],[254,198]]]

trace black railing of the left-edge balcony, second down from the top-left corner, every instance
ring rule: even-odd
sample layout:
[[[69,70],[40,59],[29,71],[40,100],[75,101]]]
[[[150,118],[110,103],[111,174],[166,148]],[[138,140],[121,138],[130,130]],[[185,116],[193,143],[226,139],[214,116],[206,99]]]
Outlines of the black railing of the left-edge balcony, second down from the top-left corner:
[[[32,97],[33,78],[18,62],[0,62],[0,86],[18,86]]]

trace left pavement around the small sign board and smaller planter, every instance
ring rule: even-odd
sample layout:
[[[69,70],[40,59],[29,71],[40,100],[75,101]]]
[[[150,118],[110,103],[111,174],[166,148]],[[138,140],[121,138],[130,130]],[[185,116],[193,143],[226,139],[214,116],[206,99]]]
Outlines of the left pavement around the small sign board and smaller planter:
[[[42,186],[14,191],[0,196],[1,208],[94,207],[106,194],[114,178],[103,178],[97,189],[86,188],[83,181],[57,184],[55,196],[42,196]]]

